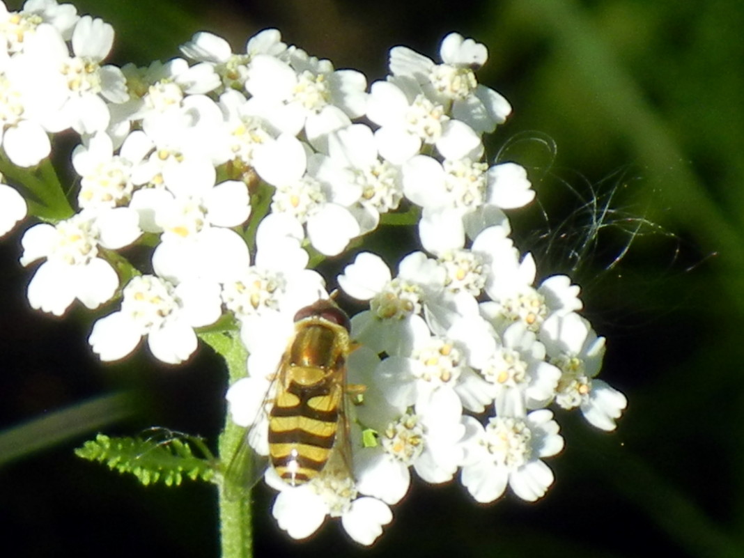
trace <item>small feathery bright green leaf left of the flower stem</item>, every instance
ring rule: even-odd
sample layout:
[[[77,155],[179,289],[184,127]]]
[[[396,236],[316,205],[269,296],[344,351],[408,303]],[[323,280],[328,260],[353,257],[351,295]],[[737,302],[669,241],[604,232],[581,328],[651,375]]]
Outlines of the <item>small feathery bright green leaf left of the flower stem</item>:
[[[191,446],[205,458],[193,454]],[[75,455],[88,461],[106,464],[109,469],[132,473],[144,484],[161,482],[168,487],[179,486],[184,477],[192,481],[214,478],[214,457],[196,437],[109,437],[98,434],[75,450]]]

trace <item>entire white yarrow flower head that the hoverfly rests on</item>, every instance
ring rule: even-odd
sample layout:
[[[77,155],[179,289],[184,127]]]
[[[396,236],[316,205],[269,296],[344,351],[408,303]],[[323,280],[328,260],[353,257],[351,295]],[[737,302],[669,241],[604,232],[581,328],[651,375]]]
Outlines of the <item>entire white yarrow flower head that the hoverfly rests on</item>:
[[[0,38],[10,161],[38,164],[49,132],[81,136],[80,211],[22,240],[23,265],[45,260],[31,306],[62,315],[76,298],[96,308],[121,295],[121,310],[89,337],[106,361],[147,338],[156,358],[178,364],[196,350],[195,328],[232,316],[250,353],[251,376],[228,392],[238,424],[261,416],[295,313],[327,297],[310,254],[337,256],[385,214],[420,212],[426,252],[406,255],[396,277],[362,252],[338,278],[370,306],[352,318],[360,346],[348,359],[348,381],[365,386],[350,417],[354,478],[290,487],[269,470],[280,490],[273,513],[291,536],[336,516],[371,544],[411,467],[432,483],[459,470],[481,502],[507,484],[540,498],[553,482],[542,459],[563,446],[552,403],[615,428],[626,400],[595,378],[604,339],[577,314],[579,288],[565,276],[536,286],[532,257],[510,238],[503,210],[534,191],[524,168],[485,159],[482,136],[511,107],[475,77],[484,45],[451,33],[441,63],[393,48],[391,75],[368,89],[358,71],[336,70],[274,29],[237,54],[197,33],[186,58],[117,68],[103,65],[111,25],[28,0],[19,12],[0,3]],[[0,229],[24,216],[16,201]],[[115,252],[135,242],[154,246],[141,271]],[[266,429],[251,432],[266,455]]]

